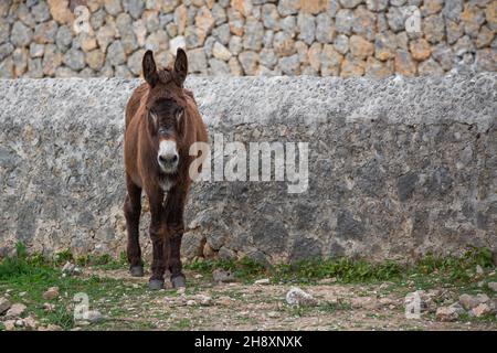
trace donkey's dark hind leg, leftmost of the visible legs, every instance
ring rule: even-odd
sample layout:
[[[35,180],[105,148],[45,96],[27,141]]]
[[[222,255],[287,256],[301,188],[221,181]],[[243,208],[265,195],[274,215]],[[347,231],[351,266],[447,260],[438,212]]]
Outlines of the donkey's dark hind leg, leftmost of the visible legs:
[[[141,249],[139,244],[139,223],[141,213],[141,188],[137,186],[129,175],[126,175],[128,194],[124,205],[126,228],[128,233],[127,257],[129,272],[133,277],[144,276],[144,264],[141,261]]]

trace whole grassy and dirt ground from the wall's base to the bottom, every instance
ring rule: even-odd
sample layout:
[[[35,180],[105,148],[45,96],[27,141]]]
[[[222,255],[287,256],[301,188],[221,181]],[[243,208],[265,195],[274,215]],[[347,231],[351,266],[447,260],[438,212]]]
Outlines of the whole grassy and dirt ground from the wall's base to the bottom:
[[[424,263],[415,271],[392,270],[382,275],[390,280],[371,280],[372,275],[368,275],[368,280],[351,280],[343,276],[317,278],[319,272],[309,274],[314,267],[268,272],[246,264],[212,261],[187,266],[189,286],[184,292],[170,287],[151,291],[147,288],[147,274],[133,278],[124,263],[83,266],[77,276],[63,272],[61,263],[12,264],[0,264],[0,299],[25,304],[20,318],[33,317],[38,329],[52,324],[51,330],[497,330],[495,311],[479,318],[467,311],[452,322],[440,321],[435,315],[437,308],[457,302],[462,293],[486,295],[493,307],[497,296],[488,284],[495,282],[497,275],[494,265],[488,264],[464,270],[466,265],[459,268],[456,263],[444,260],[436,263],[438,268],[430,267],[431,272],[423,274],[420,269],[429,264]],[[440,264],[445,264],[444,271]],[[223,266],[234,266],[234,282],[214,280],[212,269]],[[330,265],[326,266],[329,270]],[[347,268],[352,279],[355,270],[366,274],[363,264],[353,266],[357,269]],[[381,267],[381,274],[384,268],[393,267]],[[342,269],[343,265],[339,265],[334,270],[341,274]],[[370,271],[378,276],[380,269]],[[306,278],[303,274],[309,275]],[[268,284],[255,284],[265,277]],[[44,298],[53,286],[59,288],[57,295]],[[289,306],[285,298],[294,286],[314,296],[317,304]],[[426,308],[420,319],[406,319],[405,296],[420,289],[425,291]],[[101,320],[74,321],[73,298],[80,292],[88,296],[89,310],[102,313]],[[0,315],[0,330],[2,321],[6,329],[7,318]],[[14,330],[25,327],[18,323]]]

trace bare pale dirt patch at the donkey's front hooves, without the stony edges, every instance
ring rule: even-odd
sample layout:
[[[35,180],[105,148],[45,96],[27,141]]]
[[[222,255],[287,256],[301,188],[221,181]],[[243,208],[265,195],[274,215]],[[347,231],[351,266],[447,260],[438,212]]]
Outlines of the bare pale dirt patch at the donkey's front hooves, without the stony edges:
[[[419,320],[406,319],[404,297],[413,288],[390,282],[325,280],[302,286],[318,304],[297,308],[285,301],[289,285],[214,284],[212,278],[187,271],[184,292],[170,287],[150,291],[147,275],[131,278],[124,269],[85,270],[84,276],[91,275],[118,279],[123,285],[109,298],[89,301],[91,310],[98,310],[104,321],[76,330],[497,330],[495,321],[474,318],[440,322],[433,309]],[[458,293],[443,288],[436,296],[448,303]]]

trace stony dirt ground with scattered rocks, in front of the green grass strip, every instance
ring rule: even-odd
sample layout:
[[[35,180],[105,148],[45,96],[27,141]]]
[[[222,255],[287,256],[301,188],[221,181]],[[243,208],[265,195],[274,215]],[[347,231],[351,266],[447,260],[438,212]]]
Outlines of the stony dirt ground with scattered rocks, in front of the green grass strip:
[[[271,278],[235,280],[223,270],[188,271],[186,291],[150,291],[147,277],[131,278],[125,268],[82,270],[66,265],[60,276],[61,288],[33,285],[24,292],[15,282],[0,281],[3,329],[497,330],[497,277],[495,270],[482,268],[474,287],[432,284],[426,290],[416,278],[370,285],[327,278],[290,285]],[[88,296],[86,315],[76,302],[80,291]],[[406,304],[412,308],[416,298],[421,315],[406,319]],[[76,321],[74,310],[83,312]]]

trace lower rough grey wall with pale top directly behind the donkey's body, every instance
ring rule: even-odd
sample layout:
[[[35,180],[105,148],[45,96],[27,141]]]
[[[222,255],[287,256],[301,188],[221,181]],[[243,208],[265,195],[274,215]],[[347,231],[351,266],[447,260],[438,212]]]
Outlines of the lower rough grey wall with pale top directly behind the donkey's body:
[[[138,83],[0,81],[0,248],[125,248],[123,111]],[[496,85],[494,73],[188,78],[211,141],[308,142],[309,178],[296,194],[274,179],[195,183],[183,255],[412,259],[495,247]]]

